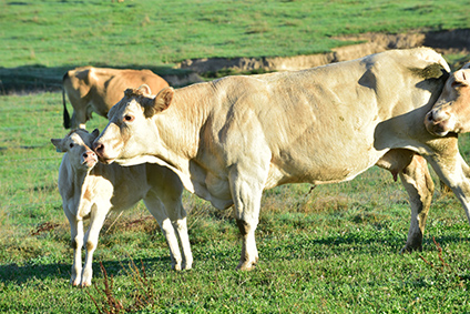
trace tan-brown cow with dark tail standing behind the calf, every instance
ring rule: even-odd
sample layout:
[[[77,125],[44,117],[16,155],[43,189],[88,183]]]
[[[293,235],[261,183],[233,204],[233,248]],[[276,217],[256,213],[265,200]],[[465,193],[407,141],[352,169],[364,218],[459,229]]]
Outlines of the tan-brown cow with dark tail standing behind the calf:
[[[157,92],[168,83],[150,70],[116,70],[84,67],[68,71],[63,83],[63,126],[85,129],[94,111],[102,117],[124,95],[127,88],[147,84]],[[65,105],[65,93],[73,107],[72,121]]]

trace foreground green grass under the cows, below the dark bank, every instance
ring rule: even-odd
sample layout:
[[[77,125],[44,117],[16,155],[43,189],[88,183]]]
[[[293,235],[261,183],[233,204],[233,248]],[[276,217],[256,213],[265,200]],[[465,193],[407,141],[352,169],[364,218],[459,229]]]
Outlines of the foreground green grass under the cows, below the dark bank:
[[[195,263],[176,273],[156,222],[140,204],[102,230],[93,265],[99,291],[71,287],[69,225],[55,183],[61,154],[49,142],[65,134],[60,101],[59,93],[0,98],[0,312],[95,312],[91,296],[110,310],[99,292],[110,281],[100,262],[113,276],[110,295],[125,308],[152,296],[140,313],[470,312],[470,227],[461,205],[437,191],[423,252],[399,255],[407,194],[380,169],[311,192],[308,184],[267,191],[257,230],[260,262],[247,273],[234,270],[241,242],[231,210],[185,193]],[[105,123],[95,118],[90,129]],[[460,143],[468,159],[468,136]]]

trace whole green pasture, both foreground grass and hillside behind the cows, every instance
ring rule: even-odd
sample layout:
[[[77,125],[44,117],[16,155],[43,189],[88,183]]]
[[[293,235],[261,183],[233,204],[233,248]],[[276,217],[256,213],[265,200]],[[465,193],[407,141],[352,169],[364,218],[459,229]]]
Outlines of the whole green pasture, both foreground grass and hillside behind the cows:
[[[0,0],[1,87],[51,87],[84,64],[162,73],[187,58],[323,52],[344,44],[333,39],[339,34],[469,28],[466,4]],[[470,312],[470,227],[461,205],[437,189],[423,252],[399,255],[407,194],[379,169],[311,192],[307,184],[267,191],[260,262],[247,273],[234,271],[241,247],[231,210],[184,195],[195,263],[176,273],[140,204],[102,230],[93,265],[100,291],[72,288],[69,225],[57,189],[62,155],[49,141],[67,133],[61,101],[58,92],[0,97],[0,312],[91,313],[92,297],[102,312],[113,310],[106,303],[113,300],[139,313]],[[95,117],[88,126],[105,123]],[[460,145],[469,161],[467,135]]]

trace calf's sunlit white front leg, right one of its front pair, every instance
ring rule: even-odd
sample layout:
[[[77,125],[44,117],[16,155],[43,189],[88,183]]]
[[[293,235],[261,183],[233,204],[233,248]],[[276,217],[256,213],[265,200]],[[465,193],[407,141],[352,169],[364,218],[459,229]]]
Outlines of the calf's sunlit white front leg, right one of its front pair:
[[[110,209],[111,204],[94,205],[91,211],[90,226],[85,234],[86,255],[85,264],[82,272],[82,287],[91,285],[91,278],[93,276],[93,253],[96,250],[98,237],[100,235],[101,227],[103,226],[104,219],[106,217],[106,214]]]

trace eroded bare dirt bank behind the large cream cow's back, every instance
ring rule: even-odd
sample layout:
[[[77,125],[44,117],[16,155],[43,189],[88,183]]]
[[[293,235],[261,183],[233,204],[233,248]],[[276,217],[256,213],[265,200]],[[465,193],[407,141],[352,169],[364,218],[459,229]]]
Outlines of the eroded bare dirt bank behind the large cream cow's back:
[[[333,62],[352,60],[389,49],[407,49],[422,45],[433,48],[442,54],[470,53],[470,29],[399,34],[365,33],[354,37],[341,37],[338,39],[360,43],[331,49],[331,52],[327,53],[288,58],[264,57],[191,59],[181,62],[177,68],[192,70],[196,73],[217,72],[221,70],[300,70]]]

